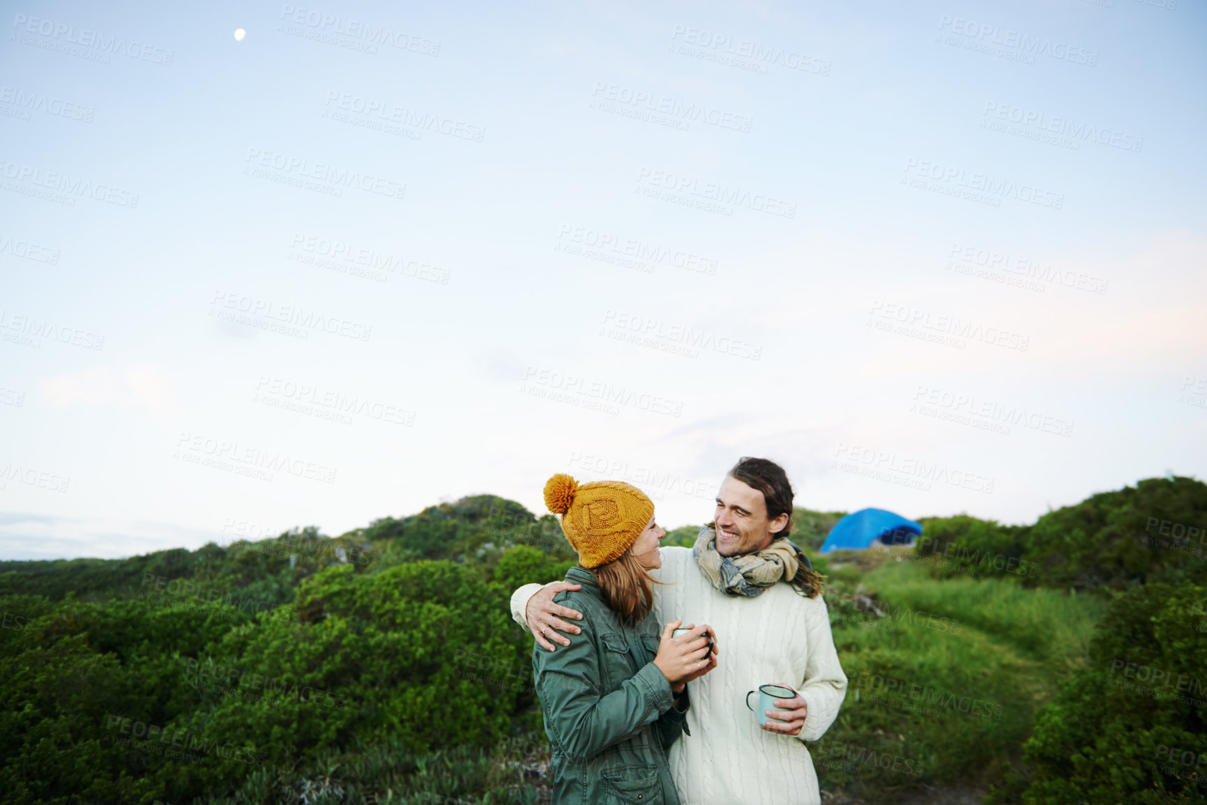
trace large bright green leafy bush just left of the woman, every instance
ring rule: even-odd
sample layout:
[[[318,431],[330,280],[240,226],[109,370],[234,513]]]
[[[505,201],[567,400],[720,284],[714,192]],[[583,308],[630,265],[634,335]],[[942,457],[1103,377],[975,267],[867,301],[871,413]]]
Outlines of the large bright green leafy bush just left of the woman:
[[[419,753],[488,746],[532,702],[527,644],[505,594],[456,562],[372,576],[331,567],[302,584],[297,611],[301,623],[276,613],[198,658],[209,706],[169,727],[246,752],[177,771],[174,799],[237,787],[260,765],[308,768],[352,736],[400,736]]]

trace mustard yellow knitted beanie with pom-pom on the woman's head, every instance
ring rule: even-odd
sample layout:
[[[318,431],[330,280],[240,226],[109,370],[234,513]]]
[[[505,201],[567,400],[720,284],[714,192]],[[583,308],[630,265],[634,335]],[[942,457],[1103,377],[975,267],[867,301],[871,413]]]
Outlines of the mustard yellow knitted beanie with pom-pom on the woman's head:
[[[654,503],[623,480],[578,485],[565,473],[544,484],[544,504],[561,515],[561,531],[583,567],[616,561],[637,541],[654,515]]]

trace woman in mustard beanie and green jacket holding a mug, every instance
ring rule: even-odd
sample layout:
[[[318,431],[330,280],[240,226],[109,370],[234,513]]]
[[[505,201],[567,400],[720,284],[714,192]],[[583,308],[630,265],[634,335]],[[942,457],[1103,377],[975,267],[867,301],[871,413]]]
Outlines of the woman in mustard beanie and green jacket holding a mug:
[[[566,581],[581,590],[554,601],[582,612],[570,646],[532,647],[544,731],[553,745],[554,805],[678,805],[666,751],[684,730],[687,683],[717,665],[706,625],[671,637],[681,620],[646,624],[661,566],[654,504],[637,488],[604,480],[579,485],[556,474],[544,502],[578,553]],[[704,634],[712,637],[712,648]]]

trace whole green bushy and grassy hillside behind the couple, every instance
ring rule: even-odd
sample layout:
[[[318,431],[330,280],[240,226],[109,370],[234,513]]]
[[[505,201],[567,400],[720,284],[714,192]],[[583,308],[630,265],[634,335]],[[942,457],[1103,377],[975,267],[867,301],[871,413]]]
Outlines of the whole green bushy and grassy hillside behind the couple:
[[[912,548],[817,556],[840,517],[793,530],[850,679],[811,745],[823,789],[1203,801],[1180,759],[1207,757],[1207,486],[1148,479],[1028,526],[925,518]],[[554,518],[480,495],[338,537],[0,562],[0,799],[544,801],[507,599],[573,561]]]

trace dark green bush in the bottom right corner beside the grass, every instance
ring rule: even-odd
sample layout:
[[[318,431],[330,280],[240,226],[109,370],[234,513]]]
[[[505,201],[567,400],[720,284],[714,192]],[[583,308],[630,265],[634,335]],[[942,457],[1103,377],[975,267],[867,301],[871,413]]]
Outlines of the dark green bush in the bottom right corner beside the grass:
[[[1095,635],[1090,670],[1039,714],[1024,772],[995,801],[1207,801],[1205,600],[1200,585],[1149,584],[1118,596]]]

